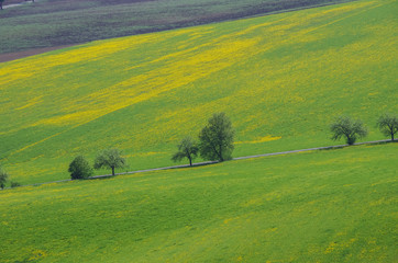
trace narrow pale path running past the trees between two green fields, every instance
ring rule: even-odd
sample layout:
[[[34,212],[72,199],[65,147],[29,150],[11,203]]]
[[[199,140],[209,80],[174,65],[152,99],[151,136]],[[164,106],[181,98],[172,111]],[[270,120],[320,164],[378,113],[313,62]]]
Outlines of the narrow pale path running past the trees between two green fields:
[[[386,139],[386,140],[364,141],[364,142],[354,144],[354,146],[357,146],[357,145],[374,145],[374,144],[380,144],[380,142],[397,142],[397,140],[391,141],[390,139]],[[253,159],[253,158],[258,158],[258,157],[290,155],[290,153],[297,153],[297,152],[303,152],[303,151],[312,151],[312,150],[330,150],[330,149],[343,148],[343,147],[347,147],[347,146],[349,145],[324,146],[324,147],[316,147],[316,148],[308,148],[308,149],[300,149],[300,150],[289,150],[289,151],[270,152],[270,153],[264,153],[264,155],[236,157],[236,158],[232,158],[232,161],[244,160],[244,159]],[[219,161],[197,162],[197,163],[192,163],[192,167],[208,165],[208,164],[213,164],[213,163],[218,163],[218,162]],[[131,171],[131,172],[115,173],[115,175],[153,172],[153,171],[170,170],[170,169],[179,169],[179,168],[189,168],[189,164],[137,170],[137,171]],[[103,175],[91,176],[90,179],[101,179],[101,178],[111,178],[111,176],[112,176],[112,174],[103,174]],[[42,185],[42,184],[62,183],[62,182],[68,182],[68,181],[71,181],[71,180],[70,179],[65,179],[65,180],[58,180],[58,181],[53,181],[53,182],[26,184],[26,185],[21,185],[21,186],[38,186],[38,185]]]

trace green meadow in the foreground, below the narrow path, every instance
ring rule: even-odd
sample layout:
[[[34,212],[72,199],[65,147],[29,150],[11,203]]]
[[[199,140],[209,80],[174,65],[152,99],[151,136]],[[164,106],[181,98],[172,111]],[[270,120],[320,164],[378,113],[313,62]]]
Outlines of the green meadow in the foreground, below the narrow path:
[[[395,262],[398,144],[0,191],[1,262]]]

